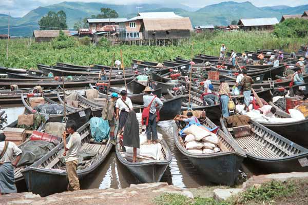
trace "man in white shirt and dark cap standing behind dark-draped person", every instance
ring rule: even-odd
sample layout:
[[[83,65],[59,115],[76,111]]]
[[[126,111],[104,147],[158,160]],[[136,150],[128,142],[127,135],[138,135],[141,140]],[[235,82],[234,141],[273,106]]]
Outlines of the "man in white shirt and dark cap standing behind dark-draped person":
[[[132,110],[132,103],[129,97],[127,97],[127,91],[122,90],[120,93],[121,97],[115,103],[115,108],[117,108],[117,120],[119,120],[118,131],[121,132],[122,128],[125,125],[128,112]]]

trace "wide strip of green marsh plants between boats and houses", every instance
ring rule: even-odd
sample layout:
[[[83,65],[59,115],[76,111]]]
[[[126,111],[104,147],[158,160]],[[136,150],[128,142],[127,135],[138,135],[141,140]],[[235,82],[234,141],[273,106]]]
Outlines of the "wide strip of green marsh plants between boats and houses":
[[[69,40],[73,37],[67,37]],[[110,46],[109,42],[102,39],[100,46],[92,44],[85,46],[77,40],[72,40],[74,46],[63,46],[60,43],[33,43],[30,39],[11,39],[9,41],[9,59],[6,60],[6,40],[0,40],[0,66],[15,68],[36,68],[36,64],[54,65],[62,61],[76,65],[101,64],[111,65],[113,53],[115,59],[121,59],[120,49],[123,51],[125,66],[130,66],[131,59],[141,59],[148,61],[162,62],[182,56],[189,59],[191,57],[191,43],[193,53],[206,53],[209,55],[219,55],[221,44],[226,44],[228,50],[236,52],[256,51],[257,49],[284,49],[287,52],[295,51],[300,45],[306,44],[308,38],[279,38],[274,34],[266,32],[213,32],[194,34],[190,38],[190,43],[183,46]],[[72,45],[69,41],[69,45]],[[59,50],[61,49],[61,50]]]

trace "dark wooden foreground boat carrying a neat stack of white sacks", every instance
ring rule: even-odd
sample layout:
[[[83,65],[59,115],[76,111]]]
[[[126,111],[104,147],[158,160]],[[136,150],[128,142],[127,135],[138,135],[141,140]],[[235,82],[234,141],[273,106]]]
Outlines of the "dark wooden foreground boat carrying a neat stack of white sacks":
[[[202,124],[214,129],[217,126],[206,118]],[[174,132],[178,133],[178,128],[174,125]],[[175,135],[175,143],[180,152],[188,157],[189,161],[196,167],[210,182],[218,185],[233,186],[239,174],[243,159],[246,157],[243,150],[236,142],[228,137],[222,130],[218,129],[219,148],[222,150],[210,154],[190,153],[183,146],[183,139]]]

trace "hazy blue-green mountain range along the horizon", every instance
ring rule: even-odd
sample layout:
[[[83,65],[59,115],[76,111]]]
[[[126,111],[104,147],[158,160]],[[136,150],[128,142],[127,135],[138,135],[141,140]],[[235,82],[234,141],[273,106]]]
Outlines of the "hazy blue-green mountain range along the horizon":
[[[59,4],[38,7],[23,17],[10,17],[10,34],[13,36],[29,36],[31,31],[39,29],[37,22],[49,11],[63,10],[67,15],[67,25],[72,28],[74,23],[85,17],[100,13],[101,8],[111,8],[119,13],[119,17],[133,17],[139,12],[174,11],[176,14],[189,17],[193,26],[197,25],[228,25],[232,20],[240,18],[277,17],[280,20],[285,14],[302,14],[308,5],[297,7],[273,6],[256,7],[250,2],[223,2],[194,10],[181,4],[160,5],[112,5],[102,3],[62,2]],[[8,15],[0,14],[0,34],[7,33]],[[32,28],[29,25],[33,25]],[[17,27],[17,28],[14,28]]]

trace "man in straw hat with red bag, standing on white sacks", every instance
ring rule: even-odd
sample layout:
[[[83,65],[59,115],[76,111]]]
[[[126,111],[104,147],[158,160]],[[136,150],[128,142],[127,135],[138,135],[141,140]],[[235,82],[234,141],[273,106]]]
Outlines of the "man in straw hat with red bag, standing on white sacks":
[[[143,106],[145,110],[142,112],[142,120],[145,120],[143,124],[146,126],[147,144],[151,144],[151,142],[156,144],[158,142],[156,117],[158,116],[157,112],[162,109],[164,104],[160,98],[152,94],[151,87],[147,86],[143,92]]]

